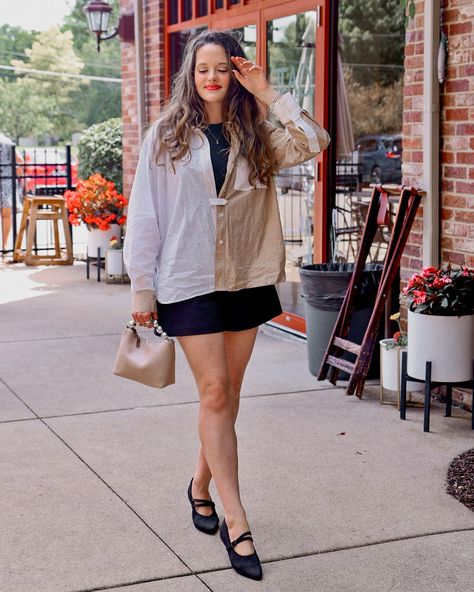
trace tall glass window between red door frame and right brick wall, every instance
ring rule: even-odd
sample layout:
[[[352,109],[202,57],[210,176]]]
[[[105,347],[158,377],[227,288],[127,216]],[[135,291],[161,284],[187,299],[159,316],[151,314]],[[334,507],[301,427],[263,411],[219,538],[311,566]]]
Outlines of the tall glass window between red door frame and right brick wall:
[[[370,18],[367,15],[370,14]],[[332,258],[353,261],[370,183],[401,183],[405,26],[399,0],[340,0]],[[372,259],[386,253],[389,226]]]

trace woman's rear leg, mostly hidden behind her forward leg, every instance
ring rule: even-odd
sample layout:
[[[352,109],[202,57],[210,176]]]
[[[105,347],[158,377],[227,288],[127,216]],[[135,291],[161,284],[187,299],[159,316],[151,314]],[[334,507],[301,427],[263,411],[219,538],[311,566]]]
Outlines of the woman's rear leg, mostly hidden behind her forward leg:
[[[239,412],[240,389],[245,369],[252,355],[256,336],[256,327],[247,331],[224,332],[224,347],[232,390],[234,424]],[[211,479],[211,470],[207,464],[202,446],[200,446],[193,479],[192,496],[196,499],[210,499],[209,483]],[[204,516],[210,516],[212,513],[212,509],[207,506],[196,508],[196,511]]]

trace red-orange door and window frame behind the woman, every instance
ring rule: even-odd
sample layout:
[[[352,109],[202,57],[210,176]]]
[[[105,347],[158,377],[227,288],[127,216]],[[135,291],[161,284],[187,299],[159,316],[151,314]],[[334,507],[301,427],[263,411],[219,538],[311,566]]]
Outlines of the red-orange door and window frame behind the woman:
[[[316,34],[316,59],[315,59],[315,119],[328,129],[330,105],[329,105],[329,76],[330,76],[330,17],[331,0],[241,0],[240,4],[230,5],[229,0],[224,0],[225,8],[215,9],[215,0],[208,0],[207,16],[181,21],[183,15],[183,0],[178,3],[178,22],[169,25],[169,2],[165,1],[165,95],[169,93],[170,71],[170,34],[187,29],[207,27],[209,29],[236,28],[244,25],[257,25],[257,59],[266,70],[267,67],[267,39],[266,23],[270,20],[291,16],[306,11],[319,12],[319,34]],[[197,14],[197,0],[192,3],[193,17]],[[318,91],[317,89],[322,89]],[[314,211],[313,211],[313,261],[321,263],[328,260],[328,153],[324,151],[316,157],[316,179],[314,185]],[[275,323],[306,333],[306,323],[303,317],[293,313],[284,312],[274,319]]]

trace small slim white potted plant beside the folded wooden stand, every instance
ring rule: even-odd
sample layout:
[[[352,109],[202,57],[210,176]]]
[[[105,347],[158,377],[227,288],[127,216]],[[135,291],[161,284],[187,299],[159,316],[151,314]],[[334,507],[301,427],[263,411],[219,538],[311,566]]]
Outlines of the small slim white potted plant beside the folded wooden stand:
[[[406,351],[408,336],[400,325],[400,313],[397,312],[390,317],[396,321],[398,331],[393,337],[382,339],[380,343],[380,400],[383,403],[383,390],[396,391],[400,396],[401,385],[401,359],[402,352]],[[421,390],[420,383],[415,381],[407,382],[407,391],[415,392]]]

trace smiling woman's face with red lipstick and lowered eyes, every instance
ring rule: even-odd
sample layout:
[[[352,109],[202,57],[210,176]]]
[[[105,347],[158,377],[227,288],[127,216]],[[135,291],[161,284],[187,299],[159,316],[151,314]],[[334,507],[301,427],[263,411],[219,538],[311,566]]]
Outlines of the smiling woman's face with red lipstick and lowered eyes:
[[[221,45],[207,43],[196,51],[194,83],[205,103],[222,104],[230,84],[231,71]]]

